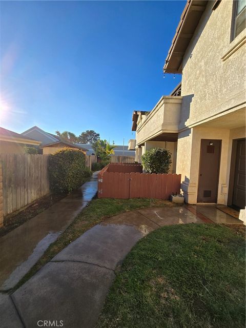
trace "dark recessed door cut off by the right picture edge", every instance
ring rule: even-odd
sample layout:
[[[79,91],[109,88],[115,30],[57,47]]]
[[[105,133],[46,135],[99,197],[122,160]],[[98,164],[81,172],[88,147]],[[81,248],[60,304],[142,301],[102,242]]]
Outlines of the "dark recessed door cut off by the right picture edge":
[[[245,139],[237,141],[232,204],[240,209],[245,208]]]

